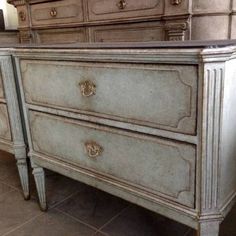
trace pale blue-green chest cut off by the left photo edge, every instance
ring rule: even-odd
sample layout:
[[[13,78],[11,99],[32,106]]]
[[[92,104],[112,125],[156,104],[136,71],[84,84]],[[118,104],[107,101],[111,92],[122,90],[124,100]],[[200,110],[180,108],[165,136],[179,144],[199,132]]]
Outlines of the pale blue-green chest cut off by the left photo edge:
[[[0,50],[0,150],[14,154],[25,199],[29,198],[26,146],[11,53]],[[0,157],[1,159],[1,157]]]

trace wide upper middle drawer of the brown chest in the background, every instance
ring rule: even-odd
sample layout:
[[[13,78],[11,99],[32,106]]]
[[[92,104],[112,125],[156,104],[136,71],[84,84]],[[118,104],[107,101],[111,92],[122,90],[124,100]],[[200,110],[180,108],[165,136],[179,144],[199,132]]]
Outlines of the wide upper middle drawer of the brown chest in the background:
[[[164,12],[163,2],[163,0],[91,0],[88,1],[89,20],[157,16]]]

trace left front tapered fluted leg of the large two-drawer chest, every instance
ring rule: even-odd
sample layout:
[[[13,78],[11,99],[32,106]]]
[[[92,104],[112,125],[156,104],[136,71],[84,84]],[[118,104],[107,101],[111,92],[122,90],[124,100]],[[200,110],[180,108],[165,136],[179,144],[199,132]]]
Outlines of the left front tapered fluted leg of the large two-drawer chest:
[[[33,175],[38,192],[39,206],[42,211],[47,210],[46,189],[45,189],[45,174],[42,167],[33,165]]]

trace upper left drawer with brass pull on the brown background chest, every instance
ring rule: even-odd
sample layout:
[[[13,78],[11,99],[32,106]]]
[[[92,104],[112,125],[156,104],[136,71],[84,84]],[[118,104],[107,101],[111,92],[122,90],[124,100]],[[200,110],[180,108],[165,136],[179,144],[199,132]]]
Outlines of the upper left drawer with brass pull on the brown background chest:
[[[83,21],[82,0],[54,1],[31,5],[33,26]]]

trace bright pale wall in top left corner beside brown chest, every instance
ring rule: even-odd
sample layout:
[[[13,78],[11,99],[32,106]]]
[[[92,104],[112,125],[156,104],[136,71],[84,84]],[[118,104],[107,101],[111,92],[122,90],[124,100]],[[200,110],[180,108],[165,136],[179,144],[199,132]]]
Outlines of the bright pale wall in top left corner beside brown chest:
[[[3,9],[6,29],[16,29],[18,20],[15,7],[6,3],[6,0],[0,0],[0,9]]]

